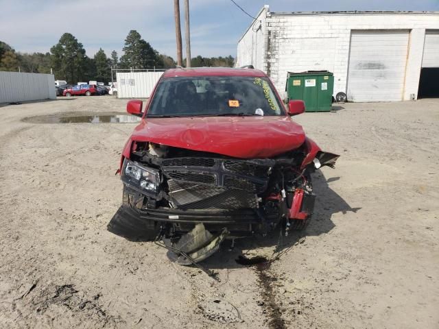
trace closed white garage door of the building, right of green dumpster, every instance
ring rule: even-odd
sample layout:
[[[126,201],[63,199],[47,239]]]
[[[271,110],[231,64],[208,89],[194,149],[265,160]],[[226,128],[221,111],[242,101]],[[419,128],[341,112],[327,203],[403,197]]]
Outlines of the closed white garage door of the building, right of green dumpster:
[[[348,100],[401,101],[408,43],[408,31],[353,31]]]

